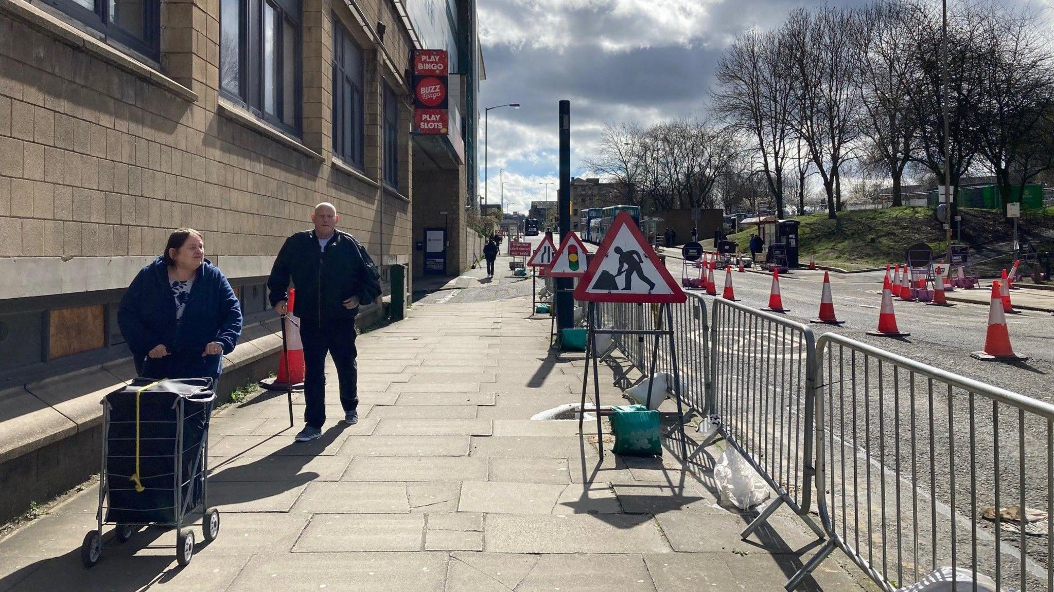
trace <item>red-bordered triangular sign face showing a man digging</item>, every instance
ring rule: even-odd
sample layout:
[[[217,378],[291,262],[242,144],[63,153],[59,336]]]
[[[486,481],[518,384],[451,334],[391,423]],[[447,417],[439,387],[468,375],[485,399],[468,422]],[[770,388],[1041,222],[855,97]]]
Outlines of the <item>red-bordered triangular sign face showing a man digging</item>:
[[[687,296],[659,261],[633,217],[620,212],[604,235],[574,299],[589,302],[684,302]]]

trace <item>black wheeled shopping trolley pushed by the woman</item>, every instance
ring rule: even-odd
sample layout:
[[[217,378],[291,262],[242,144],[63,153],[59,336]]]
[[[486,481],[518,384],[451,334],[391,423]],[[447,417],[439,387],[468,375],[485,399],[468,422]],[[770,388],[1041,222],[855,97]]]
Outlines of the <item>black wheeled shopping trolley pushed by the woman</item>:
[[[174,527],[182,566],[194,552],[193,532],[183,526],[198,507],[206,540],[215,538],[219,513],[208,507],[206,478],[215,399],[212,378],[136,378],[103,398],[99,528],[81,547],[85,567],[101,555],[104,524],[116,525],[118,542],[136,527]]]

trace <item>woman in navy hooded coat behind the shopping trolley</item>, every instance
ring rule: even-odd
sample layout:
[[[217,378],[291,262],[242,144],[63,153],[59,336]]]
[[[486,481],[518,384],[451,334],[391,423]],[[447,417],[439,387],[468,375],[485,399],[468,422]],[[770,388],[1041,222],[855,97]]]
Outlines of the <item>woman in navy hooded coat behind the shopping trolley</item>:
[[[179,229],[132,280],[117,311],[121,335],[147,378],[219,378],[221,354],[241,335],[241,307],[227,277],[204,258],[204,240]]]

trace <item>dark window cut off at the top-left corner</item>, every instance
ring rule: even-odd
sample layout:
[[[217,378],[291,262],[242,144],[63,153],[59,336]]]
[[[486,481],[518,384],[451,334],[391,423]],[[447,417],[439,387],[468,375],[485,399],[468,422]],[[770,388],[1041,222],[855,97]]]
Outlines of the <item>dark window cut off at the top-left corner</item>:
[[[151,59],[156,60],[160,56],[160,0],[45,1]]]

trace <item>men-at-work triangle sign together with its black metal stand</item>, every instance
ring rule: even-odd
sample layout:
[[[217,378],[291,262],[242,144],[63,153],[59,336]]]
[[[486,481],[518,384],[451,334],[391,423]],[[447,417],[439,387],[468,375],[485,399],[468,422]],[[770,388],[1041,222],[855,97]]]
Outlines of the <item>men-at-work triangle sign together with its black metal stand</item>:
[[[621,284],[619,280],[622,280]],[[636,280],[636,281],[635,281]],[[582,376],[582,404],[579,415],[581,431],[586,407],[586,391],[589,383],[589,362],[592,360],[593,374],[593,412],[597,414],[597,443],[600,448],[601,460],[604,459],[604,436],[601,423],[599,359],[597,351],[597,335],[653,335],[655,346],[651,350],[651,366],[648,378],[653,378],[659,361],[660,337],[669,339],[670,362],[674,368],[674,398],[677,401],[678,427],[681,433],[681,458],[687,457],[687,445],[684,435],[684,411],[681,404],[681,373],[677,370],[677,348],[674,339],[674,314],[670,304],[684,302],[687,297],[677,284],[677,281],[659,261],[644,235],[626,212],[619,213],[611,223],[610,230],[604,235],[604,241],[592,257],[585,275],[574,289],[574,298],[588,302],[586,317],[586,367]],[[656,311],[656,328],[653,330],[601,329],[600,314],[597,302],[637,302],[659,304]],[[665,325],[663,329],[663,319]],[[651,399],[651,388],[655,380],[648,382],[647,400]],[[672,432],[672,430],[671,430]],[[669,435],[670,432],[667,432]]]

